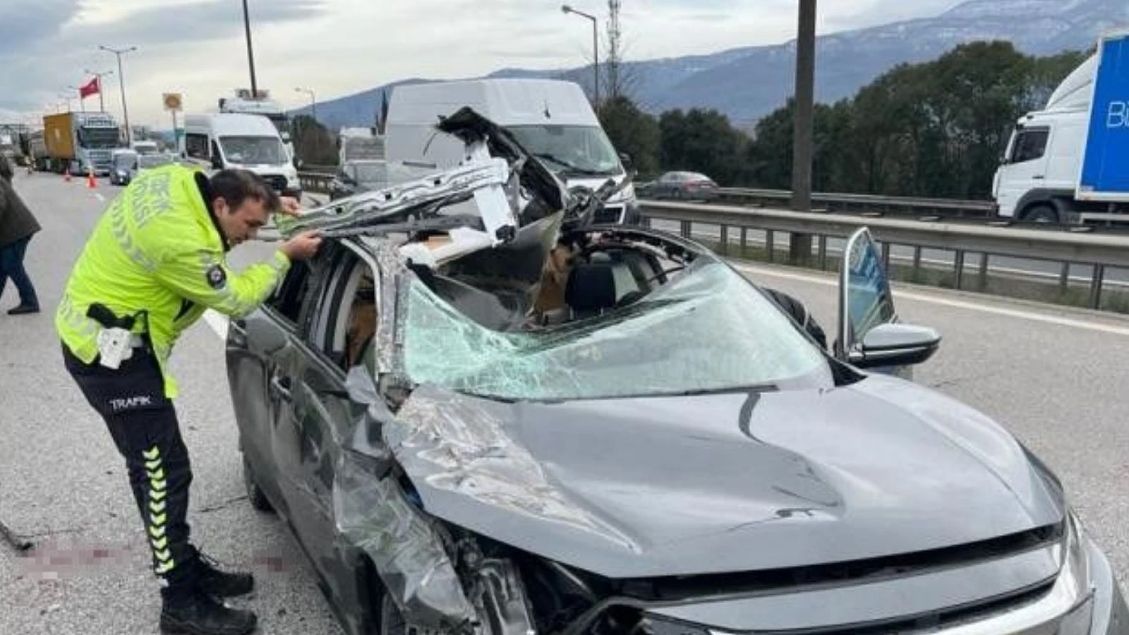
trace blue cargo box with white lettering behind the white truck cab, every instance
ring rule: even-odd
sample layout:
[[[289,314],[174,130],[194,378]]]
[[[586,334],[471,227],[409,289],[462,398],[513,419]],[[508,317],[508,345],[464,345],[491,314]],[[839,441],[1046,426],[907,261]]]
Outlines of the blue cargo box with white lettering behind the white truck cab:
[[[1129,34],[1105,38],[1078,191],[1129,194]]]

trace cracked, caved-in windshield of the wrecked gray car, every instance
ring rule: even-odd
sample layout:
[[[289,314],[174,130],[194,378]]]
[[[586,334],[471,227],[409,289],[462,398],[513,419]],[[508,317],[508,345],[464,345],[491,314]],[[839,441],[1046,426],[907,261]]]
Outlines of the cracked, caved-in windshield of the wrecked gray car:
[[[831,385],[819,348],[724,263],[700,261],[638,303],[544,331],[480,325],[412,279],[410,380],[502,400]]]

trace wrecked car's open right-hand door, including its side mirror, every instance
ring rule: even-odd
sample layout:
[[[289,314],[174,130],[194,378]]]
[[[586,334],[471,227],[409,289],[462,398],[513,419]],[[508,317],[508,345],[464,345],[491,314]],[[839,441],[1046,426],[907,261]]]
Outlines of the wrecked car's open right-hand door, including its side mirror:
[[[901,323],[882,253],[865,227],[851,235],[843,251],[837,331],[835,357],[907,380],[940,345],[936,331]]]

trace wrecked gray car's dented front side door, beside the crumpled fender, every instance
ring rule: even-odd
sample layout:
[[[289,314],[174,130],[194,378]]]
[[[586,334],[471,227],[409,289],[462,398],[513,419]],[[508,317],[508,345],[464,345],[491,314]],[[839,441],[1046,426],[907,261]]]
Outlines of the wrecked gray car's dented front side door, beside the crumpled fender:
[[[339,247],[310,312],[307,336],[297,342],[298,354],[282,368],[280,379],[289,408],[278,425],[274,454],[286,482],[290,520],[318,573],[331,580],[343,573],[334,542],[334,467],[347,435],[365,412],[348,397],[344,363],[358,280],[365,270],[376,271],[362,254],[355,246]]]

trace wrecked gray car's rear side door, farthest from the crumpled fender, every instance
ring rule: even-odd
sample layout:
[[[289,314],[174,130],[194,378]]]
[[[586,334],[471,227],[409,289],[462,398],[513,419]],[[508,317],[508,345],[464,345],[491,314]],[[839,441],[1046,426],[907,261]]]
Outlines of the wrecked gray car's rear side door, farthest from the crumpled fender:
[[[261,308],[227,329],[227,372],[243,460],[256,485],[275,508],[286,514],[285,498],[273,456],[275,421],[287,407],[275,385],[279,367],[292,357],[292,340],[306,310],[310,266],[295,262],[274,294]]]

